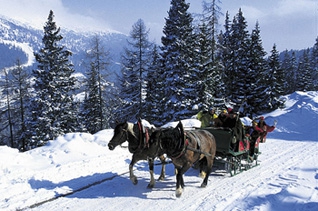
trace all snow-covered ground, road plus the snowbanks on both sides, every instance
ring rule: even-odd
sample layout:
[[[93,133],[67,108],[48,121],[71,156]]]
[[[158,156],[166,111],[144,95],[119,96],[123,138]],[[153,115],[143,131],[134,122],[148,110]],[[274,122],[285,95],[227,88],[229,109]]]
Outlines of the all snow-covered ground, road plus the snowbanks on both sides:
[[[66,134],[46,146],[19,153],[0,147],[0,210],[318,210],[318,92],[286,96],[287,107],[265,114],[277,128],[260,145],[260,165],[234,177],[215,170],[206,188],[198,171],[184,176],[175,197],[172,164],[165,181],[147,189],[148,166],[131,154],[110,151],[112,130]],[[191,121],[187,121],[191,123]],[[159,161],[157,161],[159,163]],[[155,166],[159,177],[160,166]]]

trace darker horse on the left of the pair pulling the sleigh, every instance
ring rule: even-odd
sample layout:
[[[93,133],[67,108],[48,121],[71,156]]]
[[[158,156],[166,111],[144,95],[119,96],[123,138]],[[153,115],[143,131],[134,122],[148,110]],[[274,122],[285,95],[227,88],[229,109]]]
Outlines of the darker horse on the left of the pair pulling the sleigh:
[[[155,185],[153,170],[156,157],[159,157],[162,163],[159,180],[164,180],[165,178],[165,156],[159,148],[159,143],[149,140],[153,130],[153,128],[144,127],[141,120],[138,120],[137,124],[130,122],[120,123],[116,125],[114,135],[108,143],[109,149],[114,150],[116,146],[128,141],[129,152],[133,154],[129,164],[129,177],[134,185],[138,183],[137,177],[133,172],[135,163],[140,160],[148,160],[150,172],[148,188],[153,188]]]

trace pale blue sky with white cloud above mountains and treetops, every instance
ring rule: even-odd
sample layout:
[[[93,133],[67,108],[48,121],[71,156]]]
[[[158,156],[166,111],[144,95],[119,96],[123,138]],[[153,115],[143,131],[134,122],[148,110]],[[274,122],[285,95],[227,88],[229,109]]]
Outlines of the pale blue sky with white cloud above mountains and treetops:
[[[209,1],[209,0],[207,0]],[[318,35],[318,0],[220,0],[231,20],[242,8],[249,31],[259,22],[266,51],[312,47]],[[201,0],[186,0],[189,12],[201,13]],[[49,10],[62,28],[115,30],[129,34],[141,18],[150,39],[160,43],[170,0],[0,0],[0,14],[43,27]],[[220,18],[224,24],[224,16]],[[222,26],[221,26],[221,29]]]

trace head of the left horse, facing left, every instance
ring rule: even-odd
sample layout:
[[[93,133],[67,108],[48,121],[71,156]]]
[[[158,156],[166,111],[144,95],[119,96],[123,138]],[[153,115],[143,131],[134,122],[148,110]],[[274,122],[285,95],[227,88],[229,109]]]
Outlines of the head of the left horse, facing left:
[[[108,148],[114,150],[116,146],[124,143],[128,140],[128,133],[133,134],[133,124],[129,122],[124,122],[117,124],[114,129],[114,135],[108,143]]]

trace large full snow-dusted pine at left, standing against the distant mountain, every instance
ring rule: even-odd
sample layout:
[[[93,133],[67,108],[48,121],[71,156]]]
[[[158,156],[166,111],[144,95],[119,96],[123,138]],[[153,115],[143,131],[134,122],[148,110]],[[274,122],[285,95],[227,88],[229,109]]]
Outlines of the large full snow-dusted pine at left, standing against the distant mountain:
[[[44,26],[43,48],[34,53],[38,69],[33,70],[35,96],[30,103],[27,121],[31,147],[36,147],[61,134],[74,132],[77,113],[73,102],[75,77],[69,61],[71,52],[59,45],[63,39],[53,21],[51,10]]]

